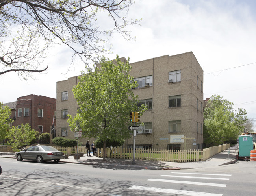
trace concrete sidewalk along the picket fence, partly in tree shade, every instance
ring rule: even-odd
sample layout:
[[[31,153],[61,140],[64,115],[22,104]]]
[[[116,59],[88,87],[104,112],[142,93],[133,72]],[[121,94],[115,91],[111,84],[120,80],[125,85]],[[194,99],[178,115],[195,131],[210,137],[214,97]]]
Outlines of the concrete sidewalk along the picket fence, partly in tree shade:
[[[228,157],[228,152],[229,157]],[[165,162],[165,161],[150,161],[150,160],[135,160],[135,165],[132,165],[132,159],[110,159],[106,158],[106,161],[102,161],[102,158],[98,158],[95,156],[81,157],[76,161],[73,156],[69,156],[68,159],[61,159],[60,163],[76,163],[76,164],[85,164],[85,165],[93,165],[99,167],[109,167],[116,169],[149,169],[149,170],[161,170],[161,169],[191,169],[191,168],[205,168],[211,166],[220,166],[227,165],[236,162],[236,146],[230,147],[228,150],[224,150],[223,152],[214,155],[210,159],[206,161],[199,162],[186,162],[186,163],[177,163],[177,162]],[[6,153],[0,152],[0,157],[6,158],[14,158],[15,153]]]

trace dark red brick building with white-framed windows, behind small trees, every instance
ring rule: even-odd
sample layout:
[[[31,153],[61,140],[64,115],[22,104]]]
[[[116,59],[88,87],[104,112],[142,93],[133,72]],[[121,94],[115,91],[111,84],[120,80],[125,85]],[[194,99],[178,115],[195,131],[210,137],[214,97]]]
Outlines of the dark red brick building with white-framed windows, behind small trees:
[[[4,105],[12,109],[10,118],[14,121],[11,126],[28,123],[32,129],[40,133],[50,133],[53,117],[55,118],[56,99],[30,94]]]

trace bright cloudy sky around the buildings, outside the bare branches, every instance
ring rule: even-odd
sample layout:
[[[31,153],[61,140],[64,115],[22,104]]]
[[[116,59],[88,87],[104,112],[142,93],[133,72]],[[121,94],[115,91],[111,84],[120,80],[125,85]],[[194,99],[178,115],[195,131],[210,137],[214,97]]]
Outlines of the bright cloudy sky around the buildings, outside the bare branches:
[[[109,59],[130,57],[130,63],[192,51],[204,70],[204,100],[214,94],[243,108],[256,131],[256,1],[255,0],[136,0],[128,17],[142,18],[130,26],[136,41],[118,33]],[[0,102],[29,94],[56,98],[56,82],[79,75],[82,63],[70,65],[72,52],[57,45],[45,58],[48,70],[35,80],[16,73],[0,76]]]

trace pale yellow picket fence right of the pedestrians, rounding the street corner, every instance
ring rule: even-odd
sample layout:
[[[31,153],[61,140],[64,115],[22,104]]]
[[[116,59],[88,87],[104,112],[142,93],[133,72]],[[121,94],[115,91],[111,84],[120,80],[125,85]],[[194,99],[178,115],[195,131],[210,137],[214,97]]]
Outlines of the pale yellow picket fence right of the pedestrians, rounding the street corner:
[[[135,149],[135,159],[169,162],[205,161],[213,155],[230,148],[230,144],[213,146],[200,150]],[[103,157],[103,149],[97,149],[98,157]],[[106,158],[132,159],[132,148],[106,148]]]

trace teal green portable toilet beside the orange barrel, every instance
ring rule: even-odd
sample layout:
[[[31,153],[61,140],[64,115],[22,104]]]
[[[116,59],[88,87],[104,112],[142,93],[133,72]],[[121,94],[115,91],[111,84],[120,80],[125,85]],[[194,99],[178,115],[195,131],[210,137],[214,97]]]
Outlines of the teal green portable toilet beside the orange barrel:
[[[253,150],[252,135],[239,135],[239,157],[250,157]]]

